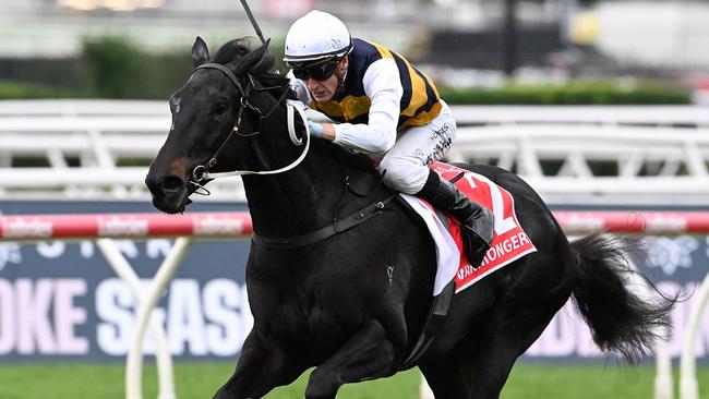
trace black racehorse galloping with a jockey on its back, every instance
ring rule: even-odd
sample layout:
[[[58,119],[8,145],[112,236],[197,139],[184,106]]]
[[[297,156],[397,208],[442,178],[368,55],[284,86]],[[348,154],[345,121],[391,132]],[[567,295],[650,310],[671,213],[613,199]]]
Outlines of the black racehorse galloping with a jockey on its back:
[[[267,44],[231,40],[209,62],[197,38],[192,58],[197,69],[170,99],[172,129],[146,178],[153,204],[169,214],[203,190],[205,171],[279,169],[307,147],[297,145],[307,137],[289,136],[284,99],[292,93],[268,72]],[[254,326],[217,398],[259,398],[312,366],[305,397],[334,398],[344,384],[412,366],[405,362],[432,303],[433,241],[364,156],[315,138],[309,147],[290,170],[243,177],[255,231],[247,265]],[[572,295],[600,348],[646,354],[673,303],[627,289],[634,242],[597,233],[569,243],[517,176],[470,169],[514,195],[538,252],[454,297],[416,364],[436,398],[497,398]]]

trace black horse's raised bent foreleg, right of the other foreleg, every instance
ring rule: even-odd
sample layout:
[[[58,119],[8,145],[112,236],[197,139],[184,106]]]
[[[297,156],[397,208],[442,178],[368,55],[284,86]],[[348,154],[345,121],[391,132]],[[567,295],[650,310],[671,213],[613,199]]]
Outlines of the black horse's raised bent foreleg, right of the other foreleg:
[[[335,398],[344,384],[389,375],[394,358],[395,349],[387,339],[386,330],[372,319],[313,371],[305,398]]]

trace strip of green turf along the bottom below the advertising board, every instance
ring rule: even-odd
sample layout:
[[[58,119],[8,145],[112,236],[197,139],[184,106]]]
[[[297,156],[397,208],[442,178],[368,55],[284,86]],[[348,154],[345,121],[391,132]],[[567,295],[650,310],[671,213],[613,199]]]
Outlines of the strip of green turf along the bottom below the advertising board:
[[[175,367],[178,398],[211,398],[231,374],[226,363],[178,363]],[[123,398],[122,364],[43,364],[0,365],[1,399]],[[652,367],[542,366],[520,364],[503,390],[503,399],[597,399],[652,398]],[[675,371],[675,382],[677,379]],[[144,398],[157,395],[154,365],[146,365]],[[271,392],[269,399],[302,398],[308,374],[295,384]],[[699,368],[699,397],[709,399],[709,367]],[[346,385],[337,396],[343,399],[416,399],[419,374],[416,371],[395,377]],[[676,396],[676,394],[675,394]]]

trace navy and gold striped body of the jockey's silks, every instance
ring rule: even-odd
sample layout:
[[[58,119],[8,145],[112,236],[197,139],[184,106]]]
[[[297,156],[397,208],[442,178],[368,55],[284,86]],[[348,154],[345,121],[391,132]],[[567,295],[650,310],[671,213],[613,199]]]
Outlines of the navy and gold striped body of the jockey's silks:
[[[363,78],[372,62],[392,58],[399,69],[404,95],[401,96],[398,128],[422,126],[441,112],[438,90],[429,76],[413,68],[409,61],[377,44],[352,39],[354,48],[349,55],[349,68],[345,88],[332,100],[323,104],[312,101],[310,107],[325,113],[337,122],[366,123],[371,100],[364,93]]]

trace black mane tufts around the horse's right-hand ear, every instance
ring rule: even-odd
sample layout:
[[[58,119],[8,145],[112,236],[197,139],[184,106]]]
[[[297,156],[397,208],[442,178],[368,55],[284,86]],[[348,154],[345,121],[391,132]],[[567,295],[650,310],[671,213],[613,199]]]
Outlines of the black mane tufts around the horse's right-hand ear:
[[[227,64],[230,62],[239,62],[249,52],[257,49],[261,41],[257,38],[245,36],[238,39],[232,39],[217,50],[212,62]],[[288,85],[288,77],[273,71],[276,63],[276,58],[271,50],[266,50],[263,61],[261,61],[252,71],[254,77],[265,86],[286,86]]]

